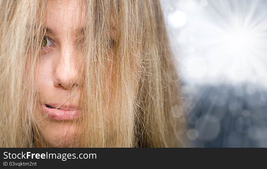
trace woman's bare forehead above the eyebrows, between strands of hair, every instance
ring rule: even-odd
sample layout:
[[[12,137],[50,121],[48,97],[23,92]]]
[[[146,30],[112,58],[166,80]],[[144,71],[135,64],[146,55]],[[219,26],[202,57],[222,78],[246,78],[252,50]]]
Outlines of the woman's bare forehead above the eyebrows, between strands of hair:
[[[51,0],[46,5],[46,26],[56,33],[73,32],[84,26],[85,13],[78,0]]]

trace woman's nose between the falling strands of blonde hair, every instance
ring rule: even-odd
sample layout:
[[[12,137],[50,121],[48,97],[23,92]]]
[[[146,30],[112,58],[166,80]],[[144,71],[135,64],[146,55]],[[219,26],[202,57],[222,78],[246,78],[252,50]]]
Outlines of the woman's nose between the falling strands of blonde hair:
[[[61,46],[60,54],[55,58],[54,85],[65,90],[78,86],[77,68],[75,63],[75,50],[72,45]]]

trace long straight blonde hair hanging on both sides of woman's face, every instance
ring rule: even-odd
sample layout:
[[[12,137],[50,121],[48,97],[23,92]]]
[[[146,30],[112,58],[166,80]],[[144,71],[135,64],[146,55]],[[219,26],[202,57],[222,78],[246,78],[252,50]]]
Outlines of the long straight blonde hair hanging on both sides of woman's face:
[[[74,121],[79,138],[73,146],[182,146],[179,79],[160,2],[81,3],[83,116]],[[0,147],[33,147],[41,135],[35,71],[45,9],[45,1],[0,1]]]

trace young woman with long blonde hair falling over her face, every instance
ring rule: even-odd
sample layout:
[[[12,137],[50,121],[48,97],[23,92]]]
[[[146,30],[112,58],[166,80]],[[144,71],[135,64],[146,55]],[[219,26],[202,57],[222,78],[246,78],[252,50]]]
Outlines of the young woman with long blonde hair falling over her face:
[[[0,23],[0,147],[182,146],[160,2],[0,1]]]

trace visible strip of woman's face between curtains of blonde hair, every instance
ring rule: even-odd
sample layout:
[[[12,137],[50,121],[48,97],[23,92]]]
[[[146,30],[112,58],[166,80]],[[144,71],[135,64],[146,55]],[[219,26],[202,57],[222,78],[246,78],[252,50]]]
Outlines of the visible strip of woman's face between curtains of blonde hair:
[[[74,119],[80,115],[77,81],[77,39],[85,15],[76,1],[48,1],[46,34],[39,62],[40,111],[36,113],[42,138],[51,146],[71,146]]]

